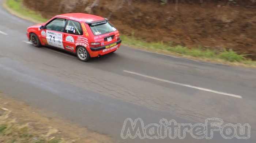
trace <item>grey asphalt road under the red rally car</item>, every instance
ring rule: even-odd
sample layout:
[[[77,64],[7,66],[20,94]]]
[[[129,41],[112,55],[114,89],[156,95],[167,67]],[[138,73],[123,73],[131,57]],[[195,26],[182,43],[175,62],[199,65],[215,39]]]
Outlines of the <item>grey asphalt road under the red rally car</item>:
[[[2,1],[1,1],[2,2]],[[256,70],[192,61],[121,46],[87,63],[74,55],[27,42],[34,23],[0,7],[0,91],[45,112],[112,136],[115,142],[256,142]],[[248,140],[121,139],[127,118],[145,124],[249,123]]]

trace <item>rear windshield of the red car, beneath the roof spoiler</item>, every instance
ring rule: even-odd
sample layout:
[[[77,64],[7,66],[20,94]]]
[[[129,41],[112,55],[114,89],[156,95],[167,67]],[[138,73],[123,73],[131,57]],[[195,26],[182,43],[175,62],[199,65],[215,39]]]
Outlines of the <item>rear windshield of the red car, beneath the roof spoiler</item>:
[[[109,21],[92,23],[90,24],[90,27],[94,35],[102,35],[105,33],[116,31],[116,28],[111,23],[109,23]]]

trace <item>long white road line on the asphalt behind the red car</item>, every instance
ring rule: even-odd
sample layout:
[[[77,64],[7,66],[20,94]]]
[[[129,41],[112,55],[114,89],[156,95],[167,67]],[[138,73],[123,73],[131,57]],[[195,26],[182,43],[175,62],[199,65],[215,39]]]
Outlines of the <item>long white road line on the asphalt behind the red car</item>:
[[[196,87],[196,86],[191,86],[191,85],[188,85],[188,84],[172,82],[172,81],[170,81],[170,80],[155,78],[155,77],[153,77],[153,76],[143,75],[143,74],[139,74],[139,73],[136,73],[136,72],[126,71],[126,70],[124,70],[123,72],[127,72],[127,73],[133,74],[133,75],[142,76],[142,77],[144,77],[144,78],[149,78],[149,79],[158,80],[158,81],[161,81],[161,82],[166,82],[166,83],[176,84],[176,85],[179,85],[179,86],[194,88],[194,89],[197,89],[197,90],[212,92],[212,93],[215,93],[215,94],[221,94],[221,95],[231,96],[231,97],[235,97],[235,98],[242,98],[242,96],[240,96],[240,95],[229,94],[229,93],[225,93],[225,92],[221,92],[221,91],[210,90],[210,89],[207,89],[207,88]]]

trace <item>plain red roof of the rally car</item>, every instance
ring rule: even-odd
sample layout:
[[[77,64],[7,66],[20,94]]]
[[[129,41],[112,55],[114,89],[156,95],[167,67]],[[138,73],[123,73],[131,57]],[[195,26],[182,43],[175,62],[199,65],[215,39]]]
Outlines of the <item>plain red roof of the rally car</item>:
[[[86,13],[66,13],[62,15],[57,15],[57,17],[63,17],[67,19],[73,19],[73,20],[79,20],[79,21],[85,21],[85,22],[93,22],[93,21],[101,21],[105,20],[105,18],[96,16],[96,15],[90,15]]]

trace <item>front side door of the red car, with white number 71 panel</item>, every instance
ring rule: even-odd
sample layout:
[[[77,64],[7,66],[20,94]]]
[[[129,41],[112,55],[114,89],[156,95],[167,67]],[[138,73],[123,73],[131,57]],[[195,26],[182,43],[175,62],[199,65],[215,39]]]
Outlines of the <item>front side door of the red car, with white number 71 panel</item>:
[[[64,49],[63,34],[66,24],[66,19],[55,18],[46,24],[46,41],[48,45]]]

